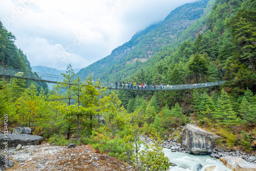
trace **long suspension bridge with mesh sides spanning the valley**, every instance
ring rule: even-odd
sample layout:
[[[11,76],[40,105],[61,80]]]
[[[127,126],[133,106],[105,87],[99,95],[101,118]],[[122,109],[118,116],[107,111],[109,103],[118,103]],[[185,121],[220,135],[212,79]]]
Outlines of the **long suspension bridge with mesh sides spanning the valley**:
[[[18,78],[18,79],[26,79],[26,80],[33,80],[33,81],[41,81],[41,82],[48,82],[48,83],[58,83],[62,82],[64,77],[62,75],[54,75],[54,74],[47,74],[47,73],[40,73],[40,72],[25,72],[19,69],[12,69],[12,68],[5,68],[0,67],[0,77],[9,77],[9,78]],[[102,83],[102,87],[106,87],[108,89],[118,89],[118,90],[133,90],[133,91],[168,91],[168,90],[185,90],[185,89],[197,89],[197,88],[206,88],[206,87],[214,87],[220,86],[224,84],[225,81],[216,81],[216,82],[205,82],[205,83],[193,83],[193,84],[178,84],[178,85],[163,85],[162,88],[160,86],[156,86],[155,88],[151,86],[148,89],[148,86],[145,88],[131,87],[128,89],[128,85],[125,84],[125,87],[122,88],[116,87],[114,83]],[[119,85],[118,85],[119,86]]]

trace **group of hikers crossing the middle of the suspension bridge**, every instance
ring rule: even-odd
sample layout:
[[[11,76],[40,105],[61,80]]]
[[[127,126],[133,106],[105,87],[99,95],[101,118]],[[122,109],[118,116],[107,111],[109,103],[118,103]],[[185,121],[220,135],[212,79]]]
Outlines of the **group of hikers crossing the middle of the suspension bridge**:
[[[116,89],[125,89],[125,86],[127,86],[127,89],[130,89],[130,90],[136,90],[136,87],[137,87],[137,90],[150,90],[150,82],[144,82],[144,83],[136,83],[136,82],[127,82],[125,83],[124,81],[120,81],[119,83],[116,81]],[[162,83],[159,83],[160,84],[160,90],[162,90],[162,87],[163,87],[163,84]],[[156,84],[155,82],[153,82],[152,84],[152,87],[154,88],[154,90],[156,90]]]

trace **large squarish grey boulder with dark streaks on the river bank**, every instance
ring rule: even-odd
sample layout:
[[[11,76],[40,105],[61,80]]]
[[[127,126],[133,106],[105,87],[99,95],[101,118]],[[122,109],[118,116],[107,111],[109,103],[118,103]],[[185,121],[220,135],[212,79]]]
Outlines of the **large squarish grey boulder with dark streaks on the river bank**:
[[[194,124],[187,124],[182,130],[182,144],[190,154],[206,155],[212,152],[216,139],[221,137],[201,129]]]

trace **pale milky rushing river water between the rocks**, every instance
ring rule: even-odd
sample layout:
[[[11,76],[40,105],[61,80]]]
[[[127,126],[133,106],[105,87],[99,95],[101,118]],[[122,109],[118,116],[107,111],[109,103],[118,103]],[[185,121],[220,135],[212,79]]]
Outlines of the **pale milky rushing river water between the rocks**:
[[[211,158],[209,155],[190,155],[181,152],[171,152],[168,148],[163,148],[163,151],[165,156],[169,158],[170,162],[177,165],[170,167],[170,170],[172,171],[196,171],[196,166],[199,163],[203,166],[201,169],[202,171],[208,166],[216,166],[216,170],[231,171],[219,159]]]

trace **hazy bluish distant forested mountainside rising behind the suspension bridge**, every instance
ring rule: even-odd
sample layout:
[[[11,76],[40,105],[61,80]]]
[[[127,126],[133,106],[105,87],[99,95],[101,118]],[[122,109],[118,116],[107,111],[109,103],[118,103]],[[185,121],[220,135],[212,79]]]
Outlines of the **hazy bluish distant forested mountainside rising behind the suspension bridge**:
[[[155,59],[154,55],[161,47],[168,45],[175,49],[180,42],[193,40],[204,29],[204,20],[198,19],[210,11],[213,2],[204,0],[175,9],[163,22],[136,33],[130,41],[114,49],[109,56],[81,69],[77,75],[86,78],[91,72],[94,79],[100,78],[103,82],[114,82],[133,75],[151,65]],[[193,30],[188,29],[197,20]],[[151,58],[152,60],[148,61]]]

